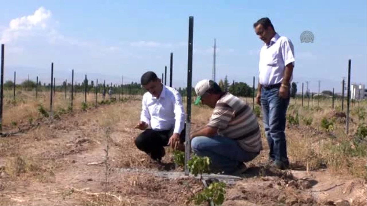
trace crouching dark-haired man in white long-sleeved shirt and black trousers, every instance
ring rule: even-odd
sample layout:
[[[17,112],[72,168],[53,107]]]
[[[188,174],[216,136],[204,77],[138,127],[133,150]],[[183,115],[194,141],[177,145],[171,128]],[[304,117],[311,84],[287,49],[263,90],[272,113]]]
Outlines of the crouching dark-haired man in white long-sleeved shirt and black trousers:
[[[144,130],[135,145],[154,161],[166,154],[164,147],[182,149],[185,141],[185,111],[180,93],[161,83],[153,71],[144,73],[141,85],[148,91],[143,95],[140,122],[135,126]]]

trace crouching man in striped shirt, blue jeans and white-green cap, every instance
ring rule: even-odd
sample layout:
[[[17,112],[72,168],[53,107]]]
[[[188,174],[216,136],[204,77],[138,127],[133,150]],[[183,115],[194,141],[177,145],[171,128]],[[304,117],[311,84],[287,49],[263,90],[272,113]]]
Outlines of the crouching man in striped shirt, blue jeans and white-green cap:
[[[252,108],[240,98],[223,92],[211,80],[195,86],[195,104],[214,108],[210,121],[191,133],[191,148],[200,157],[211,159],[211,172],[239,175],[246,171],[244,162],[262,150],[261,133]]]

